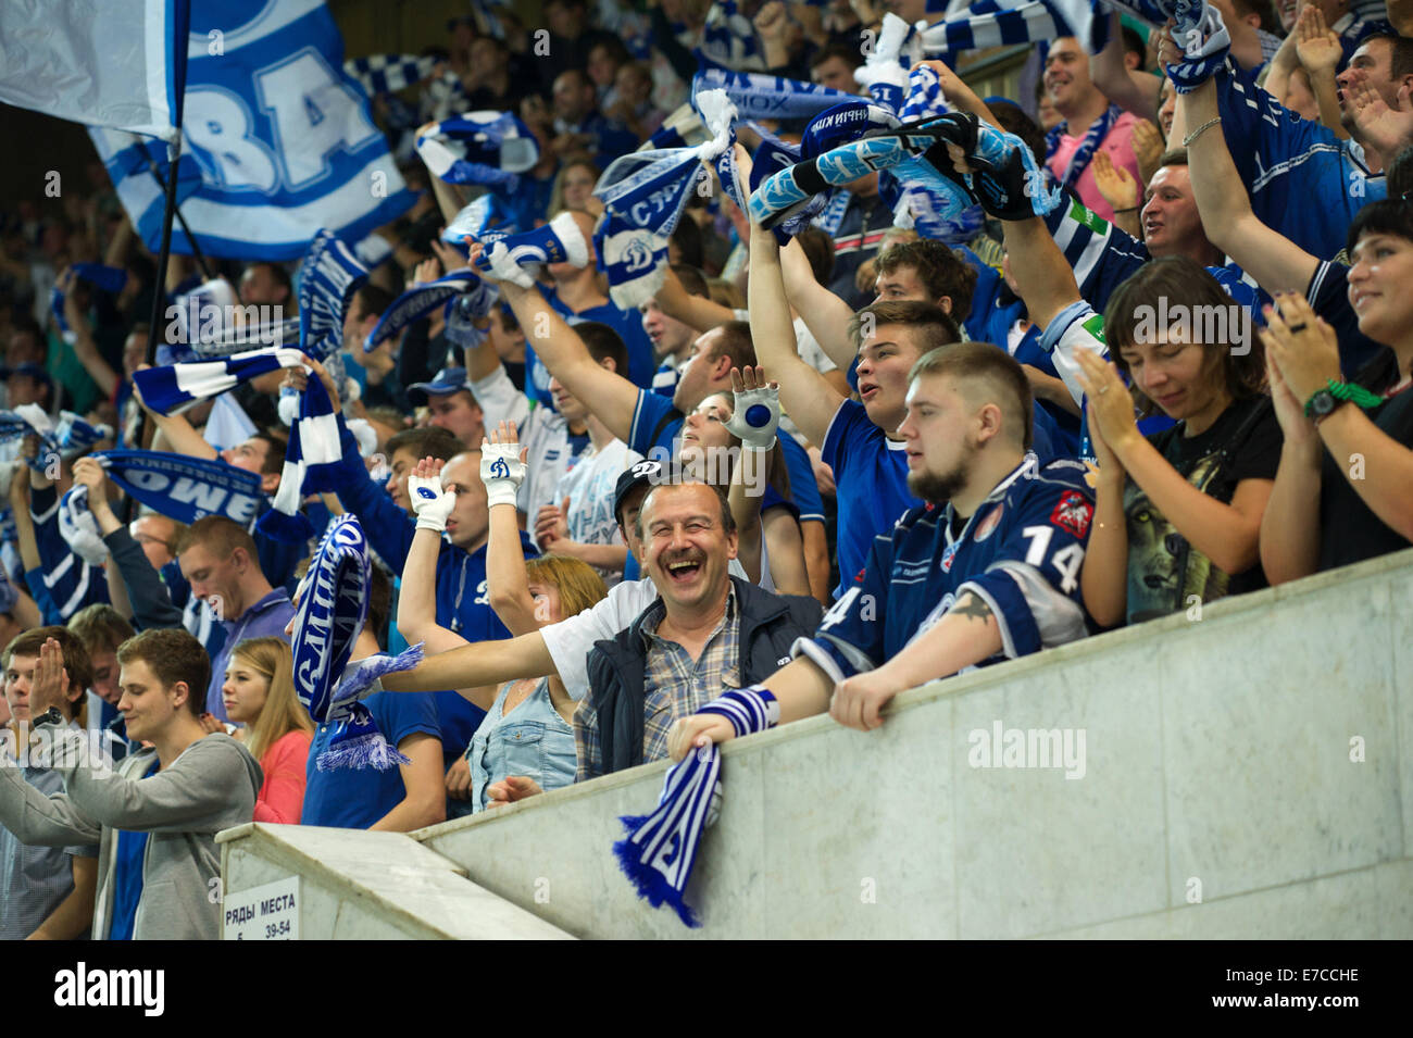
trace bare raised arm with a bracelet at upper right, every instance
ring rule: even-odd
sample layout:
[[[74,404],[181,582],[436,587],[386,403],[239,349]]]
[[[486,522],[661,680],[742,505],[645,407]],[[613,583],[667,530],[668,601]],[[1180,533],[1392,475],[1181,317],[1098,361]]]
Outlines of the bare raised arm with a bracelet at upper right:
[[[1177,100],[1193,127],[1187,161],[1191,168],[1193,195],[1208,240],[1232,257],[1243,271],[1275,295],[1280,291],[1304,291],[1320,261],[1287,237],[1276,233],[1252,212],[1246,186],[1221,127],[1217,124],[1217,83],[1208,79]],[[1219,120],[1218,120],[1219,121]],[[1207,129],[1202,129],[1204,126]]]

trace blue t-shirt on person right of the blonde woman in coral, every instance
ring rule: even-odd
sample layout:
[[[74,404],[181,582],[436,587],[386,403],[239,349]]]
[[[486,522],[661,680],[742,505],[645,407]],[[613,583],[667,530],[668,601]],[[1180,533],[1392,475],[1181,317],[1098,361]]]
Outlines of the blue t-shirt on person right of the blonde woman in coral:
[[[454,693],[455,695],[455,693]],[[415,732],[441,739],[437,702],[427,692],[376,692],[363,700],[377,729],[397,746]],[[341,829],[367,829],[407,797],[403,772],[393,767],[338,768],[319,771],[318,758],[329,747],[333,724],[319,724],[309,744],[305,764],[304,813],[301,825],[328,825]]]

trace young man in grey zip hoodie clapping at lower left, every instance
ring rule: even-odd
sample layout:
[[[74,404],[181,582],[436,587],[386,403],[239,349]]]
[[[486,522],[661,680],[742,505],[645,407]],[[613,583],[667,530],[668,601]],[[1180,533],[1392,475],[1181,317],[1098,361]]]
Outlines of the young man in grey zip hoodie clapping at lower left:
[[[0,768],[0,823],[24,843],[99,845],[95,938],[215,939],[215,837],[253,818],[260,765],[230,736],[206,734],[211,660],[191,634],[143,631],[119,647],[117,662],[117,709],[133,744],[148,748],[112,771],[81,733],[48,726],[65,792],[45,797],[14,768]],[[62,652],[49,640],[35,688],[64,681]]]

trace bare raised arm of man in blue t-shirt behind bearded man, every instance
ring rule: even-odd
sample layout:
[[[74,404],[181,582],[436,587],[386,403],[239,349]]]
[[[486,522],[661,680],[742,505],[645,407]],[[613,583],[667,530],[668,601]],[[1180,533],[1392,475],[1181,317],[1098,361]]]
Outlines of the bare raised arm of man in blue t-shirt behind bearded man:
[[[822,443],[845,397],[796,353],[794,326],[780,273],[780,246],[770,232],[759,226],[750,229],[749,309],[756,360],[766,376],[780,384],[781,407],[811,443]]]

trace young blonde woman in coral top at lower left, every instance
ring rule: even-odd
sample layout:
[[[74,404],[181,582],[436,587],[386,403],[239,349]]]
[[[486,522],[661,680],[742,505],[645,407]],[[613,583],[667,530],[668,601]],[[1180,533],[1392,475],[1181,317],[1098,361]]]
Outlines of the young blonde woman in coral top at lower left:
[[[314,722],[294,695],[290,645],[281,638],[236,645],[220,698],[226,716],[246,726],[242,739],[264,772],[254,821],[298,825]]]

